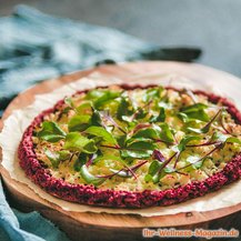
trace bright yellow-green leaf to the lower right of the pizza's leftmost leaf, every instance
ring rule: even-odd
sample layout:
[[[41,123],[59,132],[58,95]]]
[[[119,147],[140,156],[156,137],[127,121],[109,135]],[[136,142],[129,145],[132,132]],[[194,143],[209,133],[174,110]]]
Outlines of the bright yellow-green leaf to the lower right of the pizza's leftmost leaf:
[[[84,153],[94,153],[98,151],[94,141],[81,135],[79,132],[68,133],[63,148],[71,151],[82,151]]]

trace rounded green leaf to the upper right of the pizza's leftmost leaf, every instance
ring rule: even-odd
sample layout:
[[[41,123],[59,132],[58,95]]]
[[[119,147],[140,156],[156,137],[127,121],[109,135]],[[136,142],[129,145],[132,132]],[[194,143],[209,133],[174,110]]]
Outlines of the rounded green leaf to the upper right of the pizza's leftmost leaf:
[[[90,119],[91,117],[87,114],[72,117],[68,123],[69,131],[83,131],[88,128]]]

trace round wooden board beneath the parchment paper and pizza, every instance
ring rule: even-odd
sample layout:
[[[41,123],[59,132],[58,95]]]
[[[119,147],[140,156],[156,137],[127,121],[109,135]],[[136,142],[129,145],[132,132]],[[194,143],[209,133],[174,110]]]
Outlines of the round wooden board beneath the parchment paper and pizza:
[[[180,62],[135,62],[118,66],[101,66],[94,69],[74,72],[61,78],[44,81],[20,93],[7,108],[0,122],[7,119],[16,109],[27,107],[39,93],[50,92],[66,83],[77,81],[93,71],[99,71],[110,77],[131,79],[133,76],[163,72],[175,72],[193,80],[233,80],[231,74],[208,67]],[[90,212],[68,212],[61,208],[41,199],[27,185],[12,180],[9,173],[1,167],[1,175],[10,203],[23,211],[37,210],[64,230],[72,240],[139,240],[143,228],[175,227],[177,229],[230,229],[241,230],[241,203],[238,205],[213,210],[209,212],[189,212],[173,215],[159,215],[143,218],[130,214],[108,214]],[[180,239],[179,239],[180,240]]]

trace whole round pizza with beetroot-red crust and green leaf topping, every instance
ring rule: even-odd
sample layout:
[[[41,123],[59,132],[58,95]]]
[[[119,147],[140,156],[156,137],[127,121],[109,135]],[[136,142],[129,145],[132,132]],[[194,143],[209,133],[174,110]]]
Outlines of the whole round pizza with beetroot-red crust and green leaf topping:
[[[100,87],[36,117],[18,157],[34,183],[67,201],[170,205],[240,179],[241,113],[200,90]]]

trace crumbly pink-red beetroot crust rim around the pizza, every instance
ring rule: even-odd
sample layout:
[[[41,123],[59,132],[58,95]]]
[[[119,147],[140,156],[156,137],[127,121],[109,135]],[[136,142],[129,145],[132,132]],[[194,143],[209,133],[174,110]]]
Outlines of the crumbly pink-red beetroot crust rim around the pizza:
[[[122,86],[124,89],[143,88],[141,86],[129,87]],[[213,103],[222,102],[228,107],[228,111],[235,119],[237,123],[241,123],[241,113],[229,100],[209,94],[203,91],[194,91],[194,93],[205,94]],[[90,205],[116,207],[116,208],[147,208],[158,205],[170,205],[180,203],[189,199],[204,195],[208,192],[220,189],[222,185],[229,184],[241,177],[241,153],[233,158],[225,168],[203,181],[193,181],[187,185],[164,191],[144,190],[142,192],[101,190],[93,185],[71,184],[62,179],[51,177],[50,172],[39,162],[33,150],[32,134],[34,127],[41,123],[43,117],[54,112],[63,101],[59,101],[52,109],[43,111],[39,114],[31,125],[26,130],[19,145],[18,157],[20,165],[26,174],[48,193],[60,199]]]

